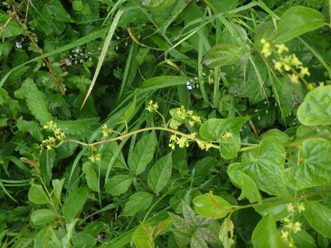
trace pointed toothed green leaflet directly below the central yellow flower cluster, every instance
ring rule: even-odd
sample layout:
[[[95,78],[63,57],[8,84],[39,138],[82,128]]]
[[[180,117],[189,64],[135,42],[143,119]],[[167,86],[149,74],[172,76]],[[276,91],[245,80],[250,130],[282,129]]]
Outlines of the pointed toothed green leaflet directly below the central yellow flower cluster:
[[[172,152],[160,158],[148,172],[148,187],[156,194],[168,184],[172,171]]]

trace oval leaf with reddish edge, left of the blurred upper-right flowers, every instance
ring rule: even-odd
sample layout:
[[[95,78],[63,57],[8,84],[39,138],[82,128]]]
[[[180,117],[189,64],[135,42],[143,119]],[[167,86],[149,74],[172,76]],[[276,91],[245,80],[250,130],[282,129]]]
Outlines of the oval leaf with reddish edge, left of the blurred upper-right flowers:
[[[247,59],[250,48],[245,45],[239,47],[238,45],[219,44],[214,45],[203,57],[201,63],[209,68],[216,68],[217,66],[232,65],[240,60]]]

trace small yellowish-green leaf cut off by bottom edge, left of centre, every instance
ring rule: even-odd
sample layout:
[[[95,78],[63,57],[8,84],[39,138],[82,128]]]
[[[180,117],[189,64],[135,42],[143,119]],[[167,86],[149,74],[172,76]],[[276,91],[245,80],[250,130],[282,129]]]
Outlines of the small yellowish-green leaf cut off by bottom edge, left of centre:
[[[132,241],[136,248],[154,248],[154,228],[148,223],[141,223],[132,235]]]

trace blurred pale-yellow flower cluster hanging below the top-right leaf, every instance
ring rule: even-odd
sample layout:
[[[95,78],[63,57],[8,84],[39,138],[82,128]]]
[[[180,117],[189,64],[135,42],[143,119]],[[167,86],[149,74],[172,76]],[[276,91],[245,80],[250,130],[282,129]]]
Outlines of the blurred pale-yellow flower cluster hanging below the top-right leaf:
[[[272,45],[268,43],[265,39],[261,39],[263,43],[263,48],[261,53],[265,57],[270,56],[273,52],[277,54],[278,59],[272,60],[274,63],[274,69],[283,72],[291,72],[290,79],[293,83],[299,83],[299,79],[303,79],[304,76],[310,76],[308,68],[302,66],[302,62],[295,56],[295,54],[283,55],[283,52],[289,52],[288,47],[284,44],[274,45],[276,50],[272,48]]]

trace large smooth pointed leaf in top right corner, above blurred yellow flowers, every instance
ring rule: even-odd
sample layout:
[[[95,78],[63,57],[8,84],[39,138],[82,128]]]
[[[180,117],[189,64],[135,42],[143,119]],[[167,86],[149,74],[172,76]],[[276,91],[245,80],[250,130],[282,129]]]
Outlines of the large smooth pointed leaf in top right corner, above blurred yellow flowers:
[[[284,43],[325,25],[321,12],[303,6],[289,8],[281,16],[273,43]]]

